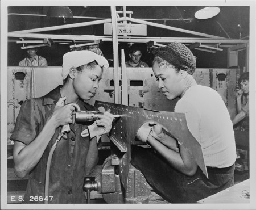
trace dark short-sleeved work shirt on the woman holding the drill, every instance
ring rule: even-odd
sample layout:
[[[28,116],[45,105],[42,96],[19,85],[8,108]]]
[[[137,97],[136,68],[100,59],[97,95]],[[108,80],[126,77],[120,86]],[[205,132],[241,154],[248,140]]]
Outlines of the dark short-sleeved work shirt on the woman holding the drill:
[[[28,145],[39,135],[49,116],[55,108],[56,102],[61,98],[61,86],[52,90],[41,98],[26,100],[20,108],[16,120],[14,132],[10,139],[20,141]],[[93,106],[79,100],[77,103],[81,110],[95,111]],[[52,156],[49,177],[49,203],[86,203],[82,190],[84,177],[92,173],[98,162],[98,148],[95,140],[89,137],[81,137],[81,132],[87,128],[84,124],[71,124],[71,131],[67,140],[61,139],[57,143]],[[30,196],[42,196],[44,198],[44,182],[49,151],[56,142],[61,127],[56,129],[51,141],[47,145],[42,158],[29,174],[27,191],[24,203],[30,201]],[[90,157],[88,156],[90,146]],[[32,199],[34,200],[34,199]],[[43,203],[37,202],[37,203]]]

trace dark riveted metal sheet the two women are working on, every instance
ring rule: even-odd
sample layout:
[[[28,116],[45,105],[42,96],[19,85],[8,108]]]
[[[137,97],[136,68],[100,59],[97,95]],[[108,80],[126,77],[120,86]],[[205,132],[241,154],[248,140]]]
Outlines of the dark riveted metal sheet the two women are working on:
[[[122,117],[114,121],[112,131],[110,131],[110,140],[112,140],[114,144],[117,144],[117,142],[118,144],[122,144],[123,152],[125,152],[122,157],[119,157],[120,178],[125,190],[127,190],[131,145],[134,142],[138,129],[147,121],[155,121],[166,127],[167,132],[184,145],[188,152],[195,158],[197,165],[199,165],[204,174],[208,176],[201,145],[188,130],[185,114],[146,110],[141,107],[131,107],[100,101],[96,101],[95,106],[104,107],[105,110],[110,108],[113,114],[122,115]]]

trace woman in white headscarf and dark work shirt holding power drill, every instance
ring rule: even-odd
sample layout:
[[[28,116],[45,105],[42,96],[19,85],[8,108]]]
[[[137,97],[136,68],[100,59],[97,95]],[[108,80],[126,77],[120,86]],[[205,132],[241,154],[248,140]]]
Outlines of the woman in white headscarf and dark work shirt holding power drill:
[[[14,141],[14,171],[18,177],[29,174],[24,203],[86,203],[82,190],[84,177],[92,173],[98,162],[96,137],[112,128],[110,110],[93,124],[76,124],[72,120],[76,103],[80,110],[96,111],[85,103],[99,87],[103,68],[108,61],[91,51],[68,52],[63,56],[63,86],[41,98],[26,100],[20,108],[11,140]],[[63,106],[65,105],[65,106]],[[44,182],[49,151],[63,125],[71,131],[60,140],[52,156],[49,196],[44,197]],[[89,129],[89,136],[82,131]]]

